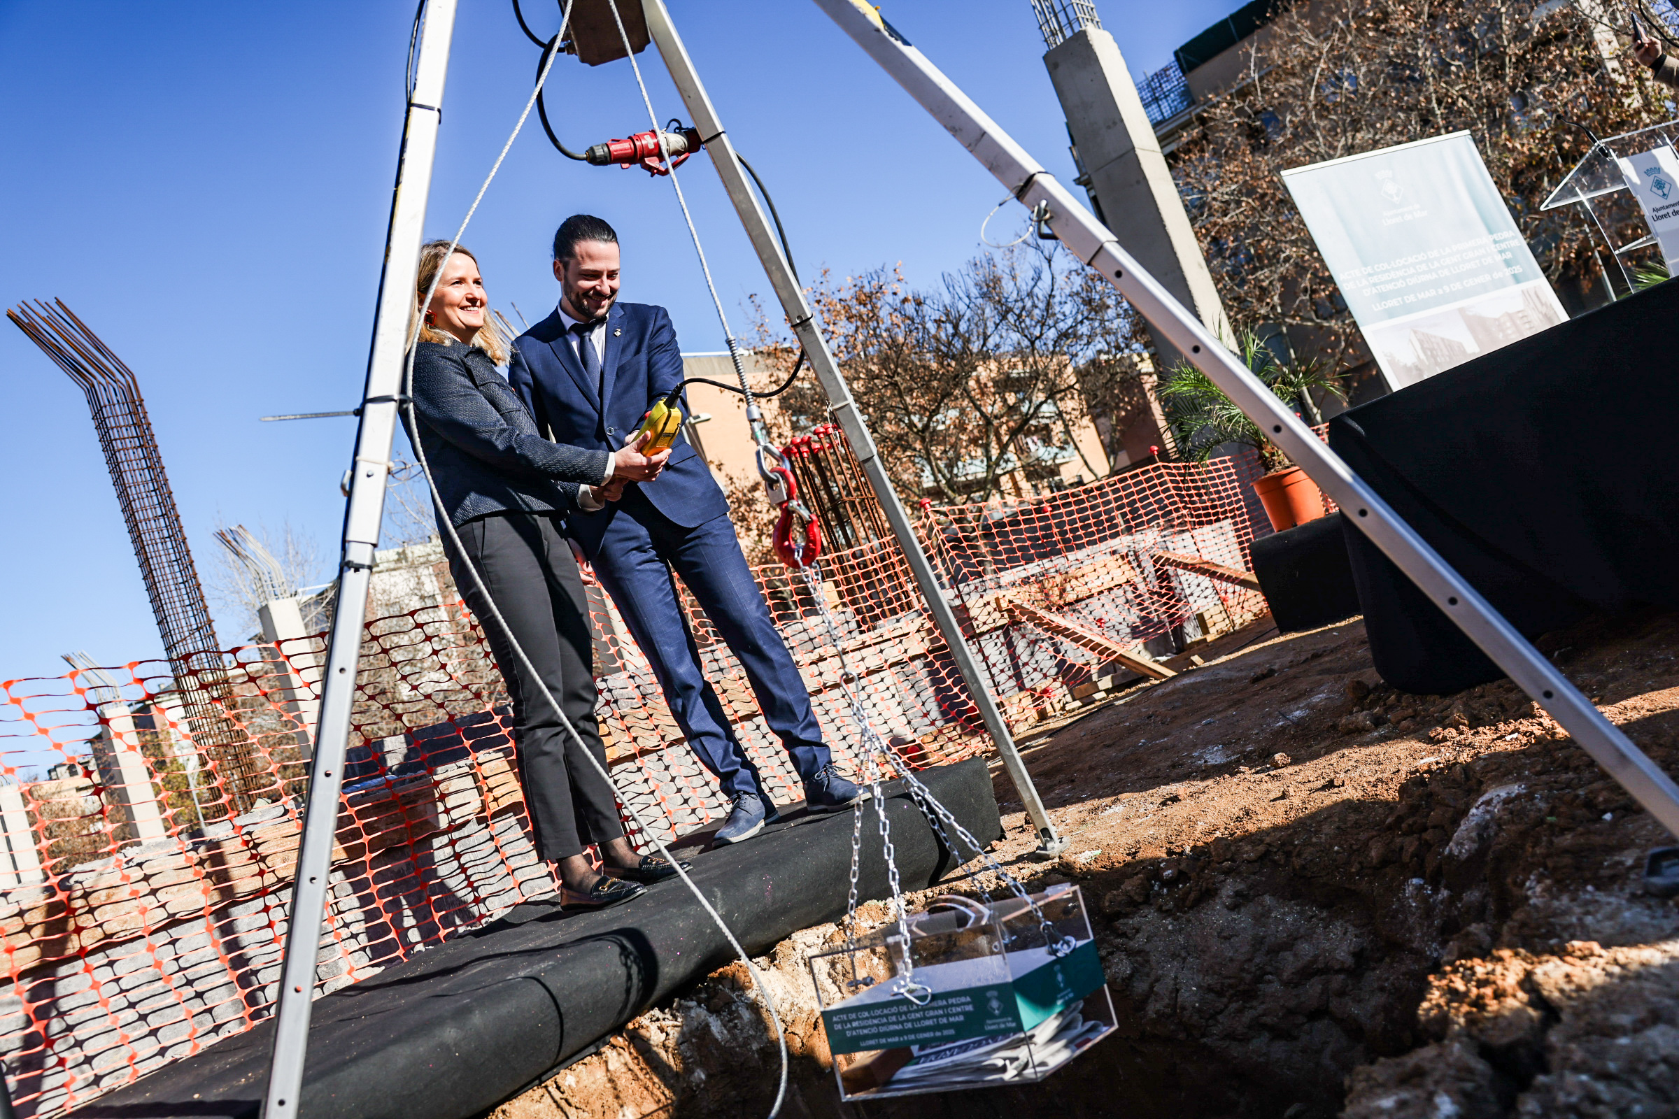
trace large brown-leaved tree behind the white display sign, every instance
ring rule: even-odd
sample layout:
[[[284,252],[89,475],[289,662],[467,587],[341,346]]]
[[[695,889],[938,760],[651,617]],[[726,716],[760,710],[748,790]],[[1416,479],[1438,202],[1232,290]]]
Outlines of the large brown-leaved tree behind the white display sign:
[[[1655,124],[1672,102],[1642,67],[1619,62],[1614,32],[1588,10],[1318,0],[1278,17],[1244,86],[1209,106],[1174,154],[1231,319],[1286,327],[1296,347],[1336,367],[1367,361],[1281,171],[1456,129],[1472,133],[1551,282],[1603,282],[1602,242],[1578,208],[1540,203],[1588,151],[1587,129],[1610,136]]]

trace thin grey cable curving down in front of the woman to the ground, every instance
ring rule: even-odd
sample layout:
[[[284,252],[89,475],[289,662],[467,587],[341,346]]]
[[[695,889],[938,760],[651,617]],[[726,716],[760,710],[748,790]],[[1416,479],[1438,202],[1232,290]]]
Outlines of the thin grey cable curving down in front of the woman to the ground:
[[[576,3],[576,0],[568,0],[568,3],[566,3],[564,13],[561,15],[561,20],[559,20],[561,34],[564,34],[564,30],[566,30],[566,23],[571,18],[571,8],[573,8],[574,3]],[[557,40],[557,35],[556,35],[556,40]],[[531,91],[531,97],[529,97],[529,101],[526,101],[524,112],[519,114],[519,122],[514,124],[512,134],[507,138],[507,143],[502,144],[500,154],[495,156],[495,163],[490,166],[490,173],[484,178],[484,185],[479,188],[477,196],[472,200],[472,206],[467,208],[467,216],[462,218],[460,228],[455,230],[455,237],[450,242],[448,253],[443,257],[443,263],[448,263],[448,258],[453,257],[455,248],[460,247],[460,238],[462,238],[462,235],[465,235],[467,225],[472,221],[472,215],[477,213],[479,203],[484,201],[484,195],[485,195],[485,191],[490,190],[490,183],[495,180],[495,174],[500,171],[502,161],[507,159],[507,153],[512,149],[514,141],[519,138],[519,133],[524,129],[526,119],[529,119],[531,109],[536,104],[537,96],[542,92],[542,84],[547,81],[547,74],[552,69],[556,57],[557,57],[557,52],[551,54],[549,60],[547,60],[547,65],[537,75],[536,89]],[[437,507],[440,510],[443,508],[443,497],[442,497],[442,493],[437,488],[437,478],[432,476],[432,465],[426,461],[425,448],[421,446],[421,441],[420,441],[420,421],[418,421],[418,414],[415,413],[415,403],[413,403],[413,376],[415,376],[415,357],[418,356],[420,325],[425,322],[426,310],[430,310],[430,307],[432,307],[432,299],[433,299],[433,295],[437,295],[437,287],[442,282],[442,278],[443,278],[443,268],[438,267],[437,275],[432,277],[432,285],[426,289],[425,300],[420,304],[420,314],[415,317],[411,332],[408,336],[408,362],[403,367],[403,393],[400,396],[401,404],[405,404],[408,408],[408,429],[413,435],[415,458],[416,458],[416,461],[420,465],[420,471],[425,475],[426,488],[432,492],[432,500],[437,502]],[[604,780],[613,789],[613,792],[618,792],[618,785],[613,782],[611,773],[606,770],[606,767],[601,763],[601,760],[596,758],[584,747],[583,736],[578,735],[578,728],[571,723],[569,718],[566,718],[566,713],[561,710],[559,703],[554,701],[554,695],[549,691],[547,683],[536,671],[536,666],[531,663],[529,654],[526,654],[524,646],[519,644],[519,639],[514,636],[512,627],[507,624],[507,619],[502,617],[500,609],[497,609],[495,601],[490,597],[489,587],[484,584],[484,577],[480,575],[480,572],[479,572],[477,565],[472,562],[472,559],[467,555],[467,550],[462,547],[460,535],[455,532],[453,520],[448,518],[448,517],[440,517],[438,523],[443,527],[443,530],[448,533],[448,539],[453,542],[455,552],[462,559],[462,565],[467,569],[467,574],[472,577],[472,582],[477,586],[479,594],[484,597],[484,604],[489,609],[489,616],[502,629],[502,634],[507,638],[507,643],[509,643],[509,646],[512,646],[512,649],[517,654],[520,664],[524,664],[524,669],[536,681],[537,691],[541,693],[542,700],[546,700],[547,705],[549,705],[549,708],[554,711],[554,715],[559,716],[559,725],[571,736],[573,743],[578,747],[578,752],[589,760],[589,765],[594,767],[594,770],[601,777],[601,780]],[[653,834],[653,829],[650,829],[646,825],[646,822],[641,819],[641,814],[636,812],[635,805],[630,804],[628,799],[623,799],[621,794],[620,794],[620,802],[623,804],[625,810],[630,814],[630,819],[635,822],[635,825],[641,830],[641,834],[648,841],[651,841],[651,844],[658,849],[660,856],[663,856],[665,861],[670,862],[672,869],[677,872],[677,877],[682,879],[682,882],[688,887],[688,893],[692,893],[693,898],[695,898],[695,901],[700,903],[700,908],[705,911],[705,914],[722,931],[724,938],[729,941],[729,946],[734,948],[735,955],[740,958],[740,963],[745,965],[745,970],[752,976],[752,983],[757,986],[759,995],[762,995],[762,998],[764,998],[764,1008],[769,1010],[771,1022],[774,1022],[774,1025],[776,1025],[776,1040],[777,1040],[777,1044],[781,1047],[781,1080],[779,1080],[779,1085],[777,1085],[777,1090],[776,1090],[776,1102],[774,1102],[774,1106],[769,1111],[769,1119],[776,1119],[776,1116],[781,1112],[781,1104],[782,1104],[782,1099],[786,1097],[786,1092],[787,1092],[787,1038],[786,1038],[786,1033],[784,1033],[784,1030],[781,1027],[781,1015],[777,1013],[777,1008],[776,1008],[776,998],[774,998],[774,995],[771,995],[769,985],[764,981],[764,976],[759,973],[757,966],[752,963],[752,958],[747,955],[745,948],[735,938],[734,929],[730,929],[729,923],[724,921],[722,914],[719,914],[717,909],[712,908],[712,903],[705,899],[705,894],[700,891],[698,886],[693,884],[693,879],[688,877],[688,872],[682,869],[682,862],[670,852],[670,849],[665,846],[665,842],[656,834]]]

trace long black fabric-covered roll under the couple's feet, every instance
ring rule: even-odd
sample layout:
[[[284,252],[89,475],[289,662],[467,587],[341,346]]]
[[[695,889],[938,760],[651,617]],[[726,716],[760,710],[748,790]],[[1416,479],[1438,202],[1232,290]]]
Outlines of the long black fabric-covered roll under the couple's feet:
[[[984,760],[922,770],[920,778],[981,842],[1002,837]],[[897,785],[888,794],[903,889],[932,886],[957,859]],[[871,805],[868,812],[858,882],[865,898],[885,898]],[[695,884],[745,950],[759,955],[845,913],[851,814],[796,819],[688,857]],[[732,958],[722,933],[675,879],[601,913],[561,916],[552,906],[519,906],[477,934],[316,1000],[299,1114],[475,1116]],[[272,1040],[270,1018],[71,1114],[255,1116]]]

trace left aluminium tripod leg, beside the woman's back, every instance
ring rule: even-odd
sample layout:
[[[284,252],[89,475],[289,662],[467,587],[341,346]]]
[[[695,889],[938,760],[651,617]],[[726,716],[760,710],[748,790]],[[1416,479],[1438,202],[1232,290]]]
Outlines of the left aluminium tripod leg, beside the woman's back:
[[[453,30],[455,0],[430,0],[425,7],[425,30],[420,37],[420,57],[415,62],[401,154],[396,161],[391,220],[384,235],[384,268],[379,273],[378,317],[373,324],[373,349],[368,356],[368,379],[361,398],[356,458],[349,471],[337,604],[326,651],[321,721],[309,773],[309,807],[304,814],[297,881],[292,884],[290,921],[285,929],[265,1119],[290,1119],[299,1114],[316,958],[321,951],[321,923],[332,867],[332,839],[337,830],[337,800],[344,783],[344,750],[349,745],[349,716],[356,698],[356,663],[361,656],[361,627],[368,612],[368,586],[373,580],[373,552],[379,544],[379,518],[384,513],[384,481],[391,465],[391,440],[396,435],[403,361],[408,354],[408,319],[413,314],[415,277],[420,270],[420,242],[425,233],[426,196],[432,191],[432,161],[437,154],[443,77],[448,72]]]

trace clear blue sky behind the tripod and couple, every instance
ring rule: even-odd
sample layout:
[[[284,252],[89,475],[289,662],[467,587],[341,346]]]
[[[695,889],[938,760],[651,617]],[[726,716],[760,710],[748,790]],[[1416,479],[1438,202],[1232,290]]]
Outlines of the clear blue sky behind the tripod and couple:
[[[900,263],[913,284],[981,250],[999,188],[813,3],[667,0],[739,149],[767,181],[806,275]],[[1237,7],[1096,0],[1133,74]],[[557,7],[529,0],[539,29]],[[885,15],[1028,151],[1071,180],[1028,0],[905,0]],[[198,567],[212,528],[289,520],[336,555],[403,114],[411,0],[287,5],[0,0],[10,106],[0,302],[62,297],[139,377]],[[517,119],[537,50],[505,0],[462,0],[428,233],[453,232]],[[662,119],[680,102],[641,55]],[[628,64],[549,79],[573,148],[646,128]],[[685,190],[735,330],[769,287],[705,156]],[[492,300],[532,319],[546,245],[574,211],[616,225],[625,299],[670,307],[683,349],[722,347],[668,183],[554,153],[532,116],[465,243]],[[161,646],[86,404],[0,327],[0,679]],[[326,579],[329,572],[322,572]],[[220,621],[222,644],[245,634]]]

